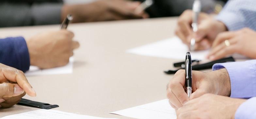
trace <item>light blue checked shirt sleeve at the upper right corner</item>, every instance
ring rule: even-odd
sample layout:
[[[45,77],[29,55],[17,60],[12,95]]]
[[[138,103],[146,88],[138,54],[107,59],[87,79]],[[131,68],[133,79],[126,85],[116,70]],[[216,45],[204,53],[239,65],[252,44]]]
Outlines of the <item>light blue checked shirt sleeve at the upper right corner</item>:
[[[216,19],[223,22],[228,30],[250,28],[256,30],[256,0],[229,0]]]

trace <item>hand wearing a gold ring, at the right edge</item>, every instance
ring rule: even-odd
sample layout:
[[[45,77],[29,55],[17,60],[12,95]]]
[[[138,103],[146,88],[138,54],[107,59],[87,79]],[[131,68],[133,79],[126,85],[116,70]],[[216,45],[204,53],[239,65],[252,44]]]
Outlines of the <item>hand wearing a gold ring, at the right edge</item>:
[[[237,53],[256,59],[255,37],[256,32],[248,28],[220,33],[213,42],[212,50],[207,58],[217,60]],[[226,40],[230,42],[230,46],[225,45]]]

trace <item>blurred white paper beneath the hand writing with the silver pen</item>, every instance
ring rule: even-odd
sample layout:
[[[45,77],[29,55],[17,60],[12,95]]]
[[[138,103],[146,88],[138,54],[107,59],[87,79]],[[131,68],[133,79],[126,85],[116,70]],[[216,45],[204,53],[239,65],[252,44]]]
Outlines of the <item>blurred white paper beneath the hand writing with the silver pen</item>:
[[[189,52],[189,49],[178,37],[173,37],[129,49],[126,52],[144,56],[184,60],[186,53]],[[203,60],[205,59],[205,56],[208,54],[208,52],[208,50],[205,50],[190,53],[192,59]]]

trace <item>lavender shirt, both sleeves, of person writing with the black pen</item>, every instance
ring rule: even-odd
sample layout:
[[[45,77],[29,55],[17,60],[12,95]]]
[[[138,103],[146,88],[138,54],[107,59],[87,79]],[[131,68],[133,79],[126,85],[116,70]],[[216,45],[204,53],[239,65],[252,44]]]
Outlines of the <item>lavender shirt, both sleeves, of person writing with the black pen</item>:
[[[256,60],[213,65],[213,70],[226,68],[231,83],[232,98],[250,98],[242,103],[235,113],[235,119],[256,117]]]

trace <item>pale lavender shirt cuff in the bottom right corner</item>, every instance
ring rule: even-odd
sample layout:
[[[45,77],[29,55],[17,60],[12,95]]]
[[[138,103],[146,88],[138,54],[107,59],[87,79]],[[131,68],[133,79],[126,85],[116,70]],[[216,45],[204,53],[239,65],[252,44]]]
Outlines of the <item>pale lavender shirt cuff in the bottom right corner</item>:
[[[235,113],[235,119],[255,119],[256,118],[256,97],[250,98],[242,103]]]

